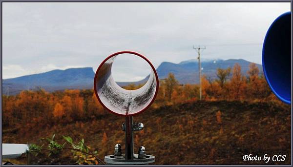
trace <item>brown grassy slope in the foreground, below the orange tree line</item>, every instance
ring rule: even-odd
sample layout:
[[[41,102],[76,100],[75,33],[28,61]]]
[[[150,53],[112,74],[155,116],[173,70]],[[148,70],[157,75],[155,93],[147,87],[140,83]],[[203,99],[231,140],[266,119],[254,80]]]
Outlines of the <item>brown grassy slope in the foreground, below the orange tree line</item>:
[[[33,130],[32,134],[4,133],[3,143],[42,143],[39,139],[57,133],[84,138],[99,156],[113,154],[122,144],[123,117],[105,114],[100,118]],[[134,117],[145,129],[134,133],[135,147],[146,146],[157,165],[289,165],[291,164],[291,111],[289,105],[241,102],[193,102],[148,109]],[[105,138],[105,134],[106,138]],[[103,138],[104,135],[104,138]],[[63,156],[33,158],[38,164],[74,163],[70,151]],[[243,161],[244,155],[286,155],[284,162]],[[40,159],[41,158],[41,159]],[[54,161],[52,161],[52,159]],[[39,161],[39,162],[38,162]]]

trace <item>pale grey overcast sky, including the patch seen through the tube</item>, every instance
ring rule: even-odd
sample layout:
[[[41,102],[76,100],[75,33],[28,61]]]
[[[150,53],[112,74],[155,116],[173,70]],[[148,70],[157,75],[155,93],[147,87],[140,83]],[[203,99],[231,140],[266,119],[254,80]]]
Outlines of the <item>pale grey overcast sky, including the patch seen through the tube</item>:
[[[273,3],[2,3],[2,78],[93,67],[110,54],[132,50],[157,68],[195,59],[192,45],[206,45],[203,59],[261,63],[272,21],[290,11]],[[149,68],[121,56],[115,81],[138,81]]]

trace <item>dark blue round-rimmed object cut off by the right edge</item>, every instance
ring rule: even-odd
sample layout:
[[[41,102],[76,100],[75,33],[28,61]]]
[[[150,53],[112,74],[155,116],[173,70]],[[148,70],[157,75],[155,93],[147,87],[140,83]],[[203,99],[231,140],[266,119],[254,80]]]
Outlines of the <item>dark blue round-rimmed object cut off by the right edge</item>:
[[[282,14],[270,26],[263,44],[262,65],[272,92],[291,104],[291,12]]]

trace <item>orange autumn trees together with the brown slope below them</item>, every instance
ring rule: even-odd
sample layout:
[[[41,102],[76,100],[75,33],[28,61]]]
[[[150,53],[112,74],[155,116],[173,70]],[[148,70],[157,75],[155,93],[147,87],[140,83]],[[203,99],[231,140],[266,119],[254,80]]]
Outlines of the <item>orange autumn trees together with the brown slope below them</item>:
[[[198,84],[180,84],[172,73],[160,80],[155,102],[134,121],[146,128],[135,132],[135,151],[146,146],[157,165],[245,165],[243,155],[286,154],[291,164],[290,105],[272,93],[254,63],[243,74],[241,66],[217,69],[216,79],[202,77],[202,100]],[[133,90],[142,85],[130,84]],[[22,91],[2,95],[3,143],[39,144],[52,137],[84,139],[100,159],[113,154],[114,145],[124,145],[123,117],[108,113],[99,104],[93,89],[46,92]],[[34,156],[32,164],[76,164],[78,156],[63,150],[62,155]],[[101,164],[82,161],[78,164]]]

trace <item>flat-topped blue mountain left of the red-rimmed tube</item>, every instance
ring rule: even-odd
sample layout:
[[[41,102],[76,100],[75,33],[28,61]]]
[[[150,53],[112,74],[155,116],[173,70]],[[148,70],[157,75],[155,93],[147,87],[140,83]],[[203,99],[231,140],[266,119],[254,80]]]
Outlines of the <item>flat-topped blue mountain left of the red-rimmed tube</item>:
[[[93,87],[94,71],[91,67],[52,70],[3,80],[3,93],[17,94],[21,90],[44,88],[47,91],[87,89]]]

